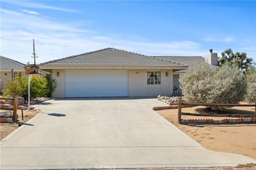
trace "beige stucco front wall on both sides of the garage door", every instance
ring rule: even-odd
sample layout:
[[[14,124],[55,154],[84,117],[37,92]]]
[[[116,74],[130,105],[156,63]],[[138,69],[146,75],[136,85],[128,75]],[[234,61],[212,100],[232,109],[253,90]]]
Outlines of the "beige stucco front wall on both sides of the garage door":
[[[59,77],[57,77],[59,72]],[[137,73],[136,73],[137,72]],[[139,73],[138,73],[139,72]],[[168,72],[168,77],[166,77]],[[162,84],[148,85],[147,70],[129,70],[129,97],[156,97],[158,95],[170,96],[173,93],[172,70],[161,70]],[[55,98],[65,97],[65,70],[53,70],[53,78],[57,80],[57,90],[53,93]]]

